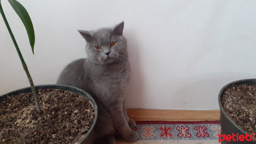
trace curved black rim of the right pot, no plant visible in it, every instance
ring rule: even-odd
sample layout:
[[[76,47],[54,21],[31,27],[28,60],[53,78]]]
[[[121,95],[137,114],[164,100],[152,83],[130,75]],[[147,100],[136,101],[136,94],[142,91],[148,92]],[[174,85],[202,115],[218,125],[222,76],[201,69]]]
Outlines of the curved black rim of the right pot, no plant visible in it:
[[[246,132],[244,129],[242,129],[239,125],[237,125],[237,124],[228,116],[228,114],[226,113],[226,111],[225,111],[225,110],[223,109],[223,107],[222,107],[222,104],[221,104],[221,101],[220,101],[220,97],[221,97],[222,92],[224,92],[230,85],[235,84],[235,83],[238,83],[238,82],[239,82],[239,83],[244,83],[244,84],[246,84],[247,81],[251,81],[251,80],[256,81],[256,79],[242,79],[242,80],[237,80],[237,81],[231,82],[231,83],[229,83],[229,84],[226,84],[226,85],[220,90],[219,96],[218,96],[220,111],[223,112],[224,116],[227,117],[227,119],[229,120],[230,123],[232,123],[233,125],[235,125],[235,127],[236,127],[237,129],[239,129],[241,132],[243,132],[244,134],[245,134],[245,133],[248,133],[248,132]]]

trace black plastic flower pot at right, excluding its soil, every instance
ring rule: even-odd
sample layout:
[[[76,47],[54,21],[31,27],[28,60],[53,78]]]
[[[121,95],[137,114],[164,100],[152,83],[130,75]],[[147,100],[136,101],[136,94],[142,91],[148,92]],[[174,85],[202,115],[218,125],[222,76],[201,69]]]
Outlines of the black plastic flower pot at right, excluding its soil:
[[[245,133],[249,134],[248,132],[246,132],[245,130],[243,130],[240,126],[238,126],[229,116],[228,114],[225,112],[225,110],[222,107],[220,98],[222,96],[222,94],[227,90],[228,87],[233,86],[233,85],[241,85],[241,84],[249,84],[249,85],[254,85],[256,84],[256,79],[244,79],[244,80],[238,80],[232,83],[229,83],[227,85],[225,85],[219,93],[219,105],[220,105],[220,125],[221,125],[221,135],[226,134],[226,135],[231,135],[234,133],[234,135],[236,135],[236,133],[238,133],[238,135],[244,135]],[[223,139],[223,137],[221,137],[221,139]],[[235,141],[236,140],[236,141]],[[236,137],[234,137],[234,140],[227,141],[221,141],[222,144],[256,144],[256,138],[254,141],[247,141],[244,139],[244,141],[240,141],[236,139]]]

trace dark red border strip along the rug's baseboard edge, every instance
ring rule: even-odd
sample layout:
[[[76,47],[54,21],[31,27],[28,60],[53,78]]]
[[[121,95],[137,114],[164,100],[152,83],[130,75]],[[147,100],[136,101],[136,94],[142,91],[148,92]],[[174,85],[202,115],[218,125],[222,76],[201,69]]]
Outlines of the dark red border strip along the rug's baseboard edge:
[[[135,121],[136,124],[220,124],[220,121]]]

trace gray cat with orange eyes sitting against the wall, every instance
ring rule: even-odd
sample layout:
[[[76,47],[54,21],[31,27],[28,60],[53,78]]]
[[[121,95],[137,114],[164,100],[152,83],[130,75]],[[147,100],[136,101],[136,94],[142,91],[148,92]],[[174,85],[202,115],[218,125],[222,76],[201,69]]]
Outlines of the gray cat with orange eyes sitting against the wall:
[[[57,81],[57,84],[81,88],[96,100],[99,115],[89,138],[93,143],[115,144],[115,130],[127,141],[139,138],[138,133],[131,129],[136,123],[127,116],[124,105],[130,67],[123,28],[124,22],[121,22],[114,28],[79,30],[87,42],[88,58],[68,64]]]

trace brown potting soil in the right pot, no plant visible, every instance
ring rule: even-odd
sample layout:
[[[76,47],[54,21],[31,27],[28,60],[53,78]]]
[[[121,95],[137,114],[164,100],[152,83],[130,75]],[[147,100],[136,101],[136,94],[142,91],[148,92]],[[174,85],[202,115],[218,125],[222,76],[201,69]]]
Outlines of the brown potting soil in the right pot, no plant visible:
[[[242,129],[256,132],[256,86],[230,86],[220,98],[223,109]]]

